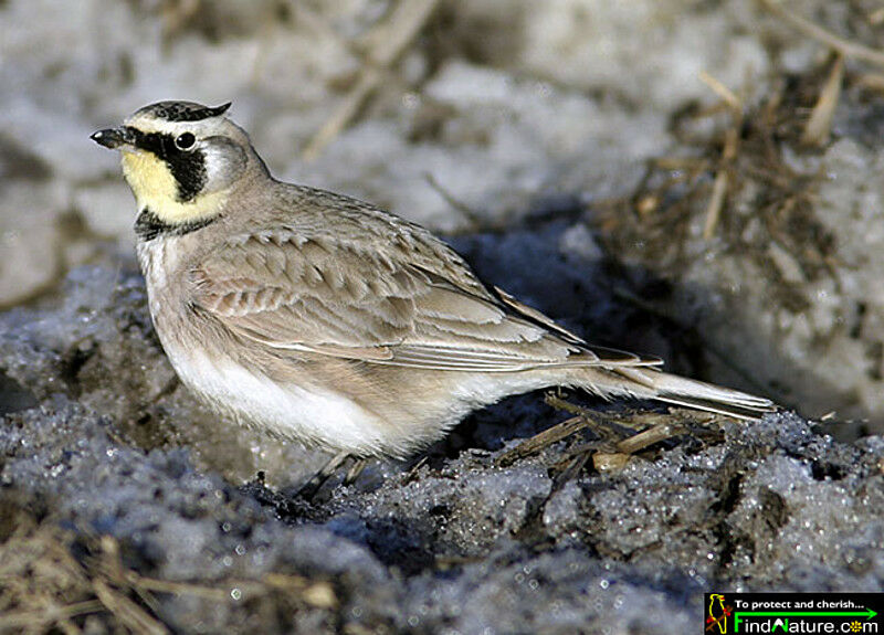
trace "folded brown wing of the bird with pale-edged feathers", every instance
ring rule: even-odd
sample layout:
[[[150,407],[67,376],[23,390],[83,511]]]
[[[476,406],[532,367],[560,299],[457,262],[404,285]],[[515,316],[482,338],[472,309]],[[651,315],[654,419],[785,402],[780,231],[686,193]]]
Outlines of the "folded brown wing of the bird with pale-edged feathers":
[[[591,350],[539,311],[493,295],[429,233],[399,229],[409,235],[380,250],[286,226],[233,236],[191,268],[192,301],[277,351],[470,371],[656,363]]]

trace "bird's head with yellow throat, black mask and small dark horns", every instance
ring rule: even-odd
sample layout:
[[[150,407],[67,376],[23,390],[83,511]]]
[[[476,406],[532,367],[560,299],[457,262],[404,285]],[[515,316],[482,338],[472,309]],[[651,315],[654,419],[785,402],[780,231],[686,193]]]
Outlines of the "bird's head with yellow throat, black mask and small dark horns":
[[[221,214],[250,171],[266,174],[249,136],[224,117],[229,107],[159,102],[92,139],[120,150],[139,210],[166,225],[192,225]]]

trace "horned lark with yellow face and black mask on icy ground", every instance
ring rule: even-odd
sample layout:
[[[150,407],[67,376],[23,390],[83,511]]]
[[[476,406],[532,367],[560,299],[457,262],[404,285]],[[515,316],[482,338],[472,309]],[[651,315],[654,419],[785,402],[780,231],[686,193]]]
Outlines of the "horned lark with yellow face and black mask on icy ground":
[[[744,419],[770,401],[590,346],[427,230],[275,180],[230,104],[161,102],[92,138],[122,151],[157,334],[183,383],[238,422],[357,456],[406,456],[538,388]]]

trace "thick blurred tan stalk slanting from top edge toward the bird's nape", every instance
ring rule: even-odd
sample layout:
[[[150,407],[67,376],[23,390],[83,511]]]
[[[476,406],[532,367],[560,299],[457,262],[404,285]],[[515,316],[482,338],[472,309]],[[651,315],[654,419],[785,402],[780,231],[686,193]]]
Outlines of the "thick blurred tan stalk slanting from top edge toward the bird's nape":
[[[369,36],[371,45],[359,81],[307,144],[303,152],[304,160],[312,161],[318,157],[319,152],[356,117],[365,100],[380,84],[383,71],[417,38],[438,3],[439,0],[402,0],[389,20]]]

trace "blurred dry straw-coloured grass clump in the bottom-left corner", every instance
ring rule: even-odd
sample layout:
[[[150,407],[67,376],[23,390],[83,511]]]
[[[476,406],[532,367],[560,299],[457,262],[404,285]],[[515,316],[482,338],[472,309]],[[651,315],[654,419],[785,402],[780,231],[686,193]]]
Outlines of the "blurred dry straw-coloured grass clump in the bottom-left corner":
[[[334,610],[334,586],[299,575],[269,573],[261,580],[212,583],[158,580],[124,564],[109,536],[87,537],[38,521],[24,505],[0,499],[0,633],[82,633],[86,620],[109,632],[161,635],[172,627],[160,616],[157,595],[193,595],[210,603],[262,599],[290,608]]]

